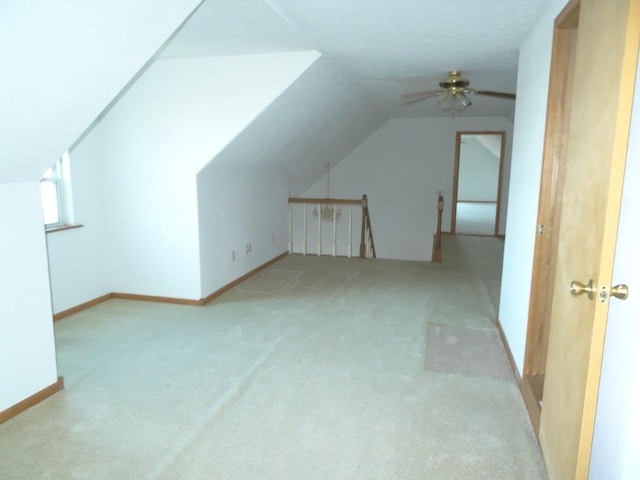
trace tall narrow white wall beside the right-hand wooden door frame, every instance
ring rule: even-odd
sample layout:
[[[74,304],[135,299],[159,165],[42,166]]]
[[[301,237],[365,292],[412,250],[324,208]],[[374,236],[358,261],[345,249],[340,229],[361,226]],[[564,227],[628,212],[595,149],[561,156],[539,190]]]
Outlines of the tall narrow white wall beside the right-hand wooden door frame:
[[[553,0],[549,4],[520,49],[499,318],[521,373],[527,335],[553,21],[565,3],[565,0]]]

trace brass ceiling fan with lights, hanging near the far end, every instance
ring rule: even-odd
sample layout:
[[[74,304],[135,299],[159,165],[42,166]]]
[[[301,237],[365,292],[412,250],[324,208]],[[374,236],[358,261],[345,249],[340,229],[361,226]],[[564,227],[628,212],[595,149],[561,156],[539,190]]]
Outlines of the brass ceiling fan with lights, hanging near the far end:
[[[489,97],[506,98],[515,100],[514,93],[494,92],[491,90],[477,90],[469,87],[469,80],[462,76],[459,70],[451,70],[449,74],[440,80],[438,90],[426,90],[424,92],[405,93],[400,97],[407,100],[402,105],[413,105],[430,98],[441,97],[438,100],[438,108],[443,112],[451,112],[453,115],[471,106],[470,95],[486,95]]]

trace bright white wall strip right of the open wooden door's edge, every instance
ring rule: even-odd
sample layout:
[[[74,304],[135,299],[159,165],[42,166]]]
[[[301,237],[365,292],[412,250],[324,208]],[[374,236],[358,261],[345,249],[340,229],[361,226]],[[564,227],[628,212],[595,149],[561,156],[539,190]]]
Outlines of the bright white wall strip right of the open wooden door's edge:
[[[628,284],[629,298],[611,300],[598,391],[589,480],[640,479],[640,71],[613,267],[614,283]]]

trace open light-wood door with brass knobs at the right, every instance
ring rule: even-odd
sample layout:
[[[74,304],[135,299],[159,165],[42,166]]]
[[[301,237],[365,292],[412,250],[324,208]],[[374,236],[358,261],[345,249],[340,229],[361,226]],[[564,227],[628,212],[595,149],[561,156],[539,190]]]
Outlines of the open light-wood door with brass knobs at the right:
[[[640,0],[582,0],[539,439],[552,480],[586,479],[640,40]],[[569,293],[594,283],[594,297]]]

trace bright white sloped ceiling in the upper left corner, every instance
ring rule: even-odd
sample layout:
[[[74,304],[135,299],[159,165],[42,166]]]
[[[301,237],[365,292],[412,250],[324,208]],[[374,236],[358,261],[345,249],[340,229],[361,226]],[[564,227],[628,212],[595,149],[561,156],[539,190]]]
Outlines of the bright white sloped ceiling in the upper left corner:
[[[200,2],[0,2],[0,183],[39,180]]]

